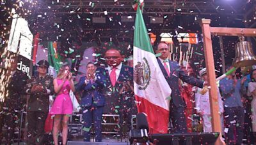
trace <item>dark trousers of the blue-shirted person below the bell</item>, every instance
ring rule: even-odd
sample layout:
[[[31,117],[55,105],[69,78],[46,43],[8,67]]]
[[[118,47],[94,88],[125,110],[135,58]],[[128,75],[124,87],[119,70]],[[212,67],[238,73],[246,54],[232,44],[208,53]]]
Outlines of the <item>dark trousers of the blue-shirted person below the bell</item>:
[[[244,137],[244,108],[243,107],[224,107],[225,128],[227,144],[242,144]],[[236,138],[235,138],[236,128]]]

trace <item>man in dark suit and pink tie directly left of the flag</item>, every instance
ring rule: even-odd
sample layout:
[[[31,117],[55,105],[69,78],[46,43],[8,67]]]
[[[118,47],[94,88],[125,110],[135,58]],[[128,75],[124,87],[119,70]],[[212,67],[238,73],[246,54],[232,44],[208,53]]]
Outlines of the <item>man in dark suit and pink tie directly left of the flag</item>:
[[[131,129],[132,107],[135,107],[135,105],[132,106],[134,102],[133,69],[122,64],[124,57],[119,50],[108,50],[105,53],[105,59],[108,66],[99,68],[99,71],[106,76],[104,113],[120,115],[120,127],[116,130],[124,136],[126,131],[129,132]],[[123,132],[125,128],[127,129]]]

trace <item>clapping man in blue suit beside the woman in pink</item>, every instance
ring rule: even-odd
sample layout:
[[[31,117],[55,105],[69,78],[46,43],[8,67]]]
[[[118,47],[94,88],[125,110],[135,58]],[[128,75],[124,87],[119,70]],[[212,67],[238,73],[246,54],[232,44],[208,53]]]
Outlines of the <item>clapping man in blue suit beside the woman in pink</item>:
[[[105,104],[105,97],[103,88],[106,79],[104,75],[96,70],[92,62],[86,66],[86,76],[80,78],[79,83],[76,85],[76,91],[83,91],[81,99],[81,107],[83,108],[83,132],[84,141],[90,141],[90,130],[92,128],[92,121],[95,128],[95,141],[101,142],[101,122],[102,113]]]

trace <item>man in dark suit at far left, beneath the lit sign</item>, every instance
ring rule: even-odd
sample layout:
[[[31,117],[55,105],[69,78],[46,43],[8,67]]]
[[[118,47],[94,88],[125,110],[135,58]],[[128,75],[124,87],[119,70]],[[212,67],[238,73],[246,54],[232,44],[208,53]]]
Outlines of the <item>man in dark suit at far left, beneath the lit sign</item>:
[[[6,141],[13,144],[15,139],[15,128],[19,128],[20,123],[20,111],[24,109],[26,104],[22,101],[21,95],[24,94],[24,86],[26,85],[26,80],[28,76],[26,72],[17,70],[17,59],[11,60],[11,73],[7,75],[10,76],[10,82],[8,85],[8,97],[4,100],[3,106],[3,120],[4,127],[6,127],[6,132],[4,137]],[[0,128],[1,130],[2,128]],[[16,130],[18,131],[18,130]]]

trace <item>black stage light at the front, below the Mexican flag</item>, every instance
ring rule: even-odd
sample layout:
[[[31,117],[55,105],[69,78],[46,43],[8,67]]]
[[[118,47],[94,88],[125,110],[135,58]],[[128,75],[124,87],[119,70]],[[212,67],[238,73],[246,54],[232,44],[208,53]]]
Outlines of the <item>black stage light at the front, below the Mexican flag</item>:
[[[136,129],[130,131],[129,138],[131,144],[148,143],[148,121],[144,113],[136,115]]]

